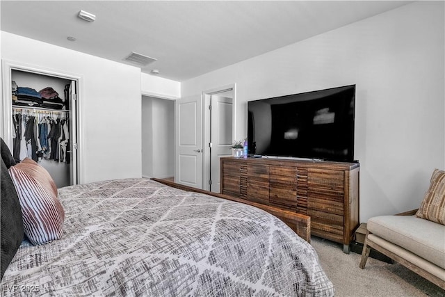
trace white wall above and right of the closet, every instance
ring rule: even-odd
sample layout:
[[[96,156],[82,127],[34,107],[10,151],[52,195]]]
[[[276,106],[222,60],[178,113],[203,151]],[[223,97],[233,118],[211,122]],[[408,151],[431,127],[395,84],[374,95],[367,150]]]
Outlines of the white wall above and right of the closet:
[[[81,183],[141,176],[139,68],[3,31],[1,58],[81,77]]]

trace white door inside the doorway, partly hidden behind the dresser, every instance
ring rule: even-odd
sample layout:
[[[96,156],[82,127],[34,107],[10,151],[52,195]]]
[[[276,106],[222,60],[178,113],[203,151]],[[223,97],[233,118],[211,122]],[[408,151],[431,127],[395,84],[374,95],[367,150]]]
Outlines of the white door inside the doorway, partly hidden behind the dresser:
[[[231,156],[233,99],[211,95],[210,120],[210,191],[220,193],[220,158]]]

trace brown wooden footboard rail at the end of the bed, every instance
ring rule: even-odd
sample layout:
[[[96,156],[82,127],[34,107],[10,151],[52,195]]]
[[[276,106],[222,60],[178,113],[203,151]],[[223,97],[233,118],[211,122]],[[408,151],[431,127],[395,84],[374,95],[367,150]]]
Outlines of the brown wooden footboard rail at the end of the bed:
[[[273,216],[276,216],[277,218],[280,218],[286,225],[291,227],[291,229],[298,234],[302,239],[305,239],[307,242],[311,242],[311,217],[306,216],[304,214],[297,214],[293,211],[288,211],[286,209],[280,209],[279,207],[271,207],[268,205],[251,202],[248,200],[244,200],[241,198],[234,198],[228,195],[223,195],[220,193],[213,193],[210,191],[205,191],[200,188],[193,188],[191,186],[184,186],[183,184],[177,184],[175,182],[172,182],[168,179],[157,179],[152,178],[155,182],[159,182],[161,184],[165,184],[166,186],[171,186],[173,188],[179,188],[184,191],[188,192],[195,192],[195,193],[203,193],[207,195],[211,195],[218,198],[223,198],[226,200],[231,200],[235,202],[241,202],[244,204],[252,205],[253,207],[258,207],[259,209],[263,209],[264,211],[267,211],[269,214],[272,214]]]

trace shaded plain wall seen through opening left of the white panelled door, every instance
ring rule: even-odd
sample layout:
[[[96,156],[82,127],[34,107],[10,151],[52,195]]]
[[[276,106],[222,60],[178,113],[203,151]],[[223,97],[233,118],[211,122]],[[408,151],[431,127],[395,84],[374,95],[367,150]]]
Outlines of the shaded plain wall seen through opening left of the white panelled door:
[[[175,102],[143,96],[143,176],[175,175]]]

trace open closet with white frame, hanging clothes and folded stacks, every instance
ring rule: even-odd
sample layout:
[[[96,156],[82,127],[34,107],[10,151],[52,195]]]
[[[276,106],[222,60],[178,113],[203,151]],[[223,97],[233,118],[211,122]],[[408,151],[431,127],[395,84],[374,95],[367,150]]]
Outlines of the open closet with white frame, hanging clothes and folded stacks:
[[[56,186],[79,182],[79,78],[3,61],[3,140],[16,161],[32,159]]]

